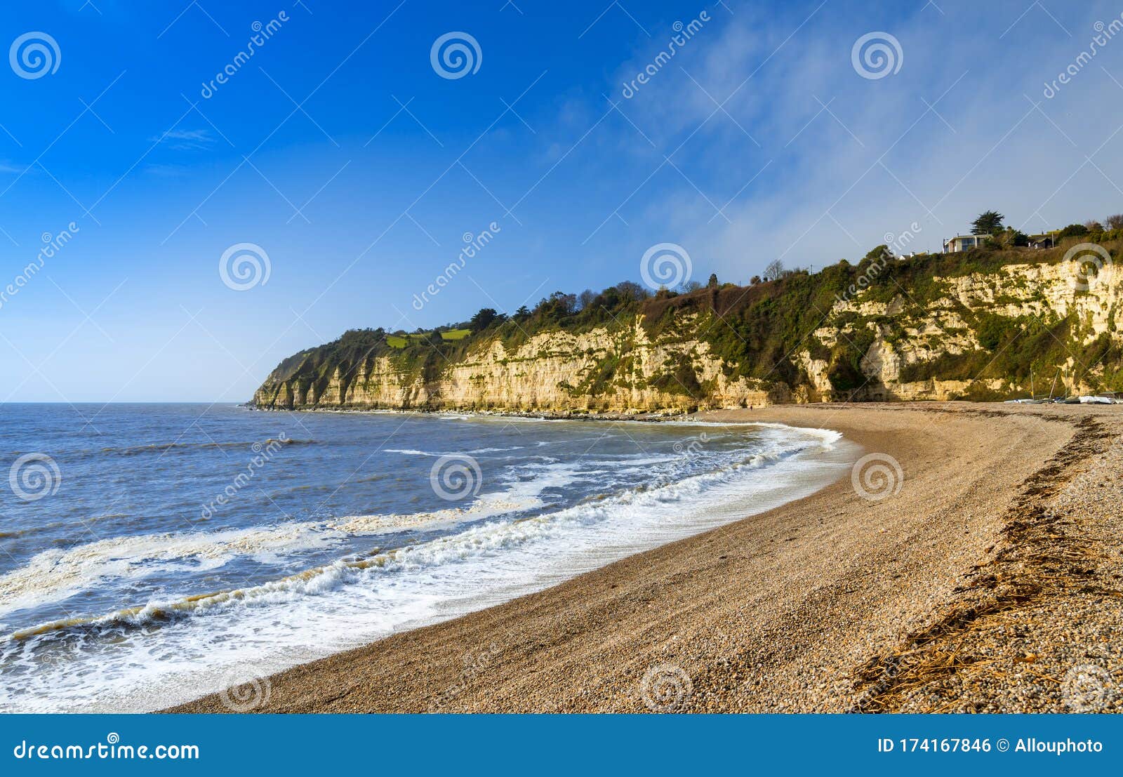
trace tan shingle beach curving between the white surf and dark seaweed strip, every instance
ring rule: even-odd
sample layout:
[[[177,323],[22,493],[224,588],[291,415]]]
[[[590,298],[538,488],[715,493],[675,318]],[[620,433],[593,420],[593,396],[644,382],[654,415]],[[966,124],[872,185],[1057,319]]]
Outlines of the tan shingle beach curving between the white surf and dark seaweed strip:
[[[1053,685],[1063,683],[1074,659],[1050,637],[1050,612],[1062,598],[1087,604],[1078,588],[1025,600],[1043,609],[1021,624],[1031,632],[1040,627],[1040,645],[1031,637],[1032,653],[1021,656],[1033,661],[999,655],[964,666],[952,661],[947,671],[922,658],[941,641],[971,639],[994,625],[975,618],[965,633],[958,625],[932,632],[947,612],[993,593],[995,585],[971,585],[973,574],[999,559],[1017,560],[1012,511],[1058,497],[1088,465],[1090,448],[1080,446],[1107,446],[1119,455],[1123,415],[1081,405],[862,403],[687,418],[834,429],[892,456],[904,481],[898,494],[867,500],[843,477],[811,496],[542,592],[293,667],[267,679],[271,701],[256,711],[665,711],[661,697],[651,704],[652,671],[672,673],[675,687],[685,688],[674,700],[682,712],[1065,709]],[[1098,431],[1089,432],[1089,424]],[[1084,439],[1089,435],[1094,441]],[[1034,481],[1042,477],[1049,488]],[[1120,484],[1111,484],[1097,496],[1117,497]],[[1080,520],[1114,531],[1110,519],[1085,508]],[[1106,628],[1104,619],[1123,623],[1119,597],[1093,596],[1111,605],[1096,602],[1103,614],[1089,621],[1095,629]],[[1010,618],[1005,606],[995,614]],[[1001,653],[1011,639],[977,649]],[[1050,651],[1059,657],[1056,666],[1047,665]],[[1111,664],[1116,658],[1102,659],[1107,671],[1119,669]],[[1006,680],[984,689],[964,685],[968,667],[999,661],[1010,662]],[[1039,691],[1042,682],[1026,669],[1051,683]],[[952,687],[943,687],[949,677]],[[171,711],[227,710],[211,695]]]

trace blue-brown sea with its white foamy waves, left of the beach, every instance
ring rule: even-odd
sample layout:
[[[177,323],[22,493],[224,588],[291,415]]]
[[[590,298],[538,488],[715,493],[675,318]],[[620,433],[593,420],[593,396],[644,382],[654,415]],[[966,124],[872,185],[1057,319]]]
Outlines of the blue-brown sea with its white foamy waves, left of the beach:
[[[0,711],[138,712],[812,493],[778,426],[4,405]]]

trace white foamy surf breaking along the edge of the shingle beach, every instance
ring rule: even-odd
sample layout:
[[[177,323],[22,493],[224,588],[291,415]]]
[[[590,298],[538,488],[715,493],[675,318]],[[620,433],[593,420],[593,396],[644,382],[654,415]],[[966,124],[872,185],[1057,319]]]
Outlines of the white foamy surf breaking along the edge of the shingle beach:
[[[263,666],[281,669],[508,601],[812,493],[847,468],[836,432],[765,429],[746,449],[697,460],[656,451],[503,459],[503,487],[464,506],[40,551],[0,576],[0,614],[66,601],[108,581],[217,574],[247,558],[293,568],[311,552],[338,555],[265,582],[191,595],[172,589],[112,612],[15,630],[0,638],[0,710],[147,711],[188,701],[219,689],[231,671],[252,677]],[[658,476],[636,483],[634,470]],[[583,496],[556,505],[556,490],[578,485]],[[378,534],[407,539],[340,552],[350,538]]]

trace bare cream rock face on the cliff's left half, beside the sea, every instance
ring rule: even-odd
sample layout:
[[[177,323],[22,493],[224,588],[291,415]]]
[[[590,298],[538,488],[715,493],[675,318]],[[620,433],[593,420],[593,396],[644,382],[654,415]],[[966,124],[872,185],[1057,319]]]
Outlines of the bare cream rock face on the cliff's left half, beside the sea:
[[[606,363],[612,369],[605,369]],[[696,383],[675,381],[674,366],[681,363],[690,365]],[[446,366],[437,381],[401,372],[387,357],[374,359],[354,378],[348,377],[337,369],[319,397],[293,390],[291,382],[267,384],[258,390],[255,402],[261,406],[645,412],[740,408],[791,399],[785,386],[728,377],[706,342],[678,337],[651,341],[639,320],[623,332],[605,328],[579,335],[542,332],[512,350],[499,340],[486,341]]]

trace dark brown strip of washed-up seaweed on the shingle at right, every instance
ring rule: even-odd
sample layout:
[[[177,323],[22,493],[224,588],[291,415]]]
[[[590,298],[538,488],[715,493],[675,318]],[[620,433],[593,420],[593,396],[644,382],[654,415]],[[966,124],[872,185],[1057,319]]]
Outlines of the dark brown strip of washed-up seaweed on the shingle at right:
[[[932,692],[926,712],[960,711],[967,684],[984,676],[999,682],[1012,660],[1039,680],[1062,680],[1034,671],[1035,653],[987,655],[968,642],[976,632],[1017,612],[1067,596],[1121,597],[1097,569],[1101,543],[1056,500],[1081,472],[1080,465],[1110,448],[1112,435],[1094,418],[1076,431],[1044,467],[1026,478],[1004,517],[1001,547],[975,565],[957,587],[957,601],[926,627],[909,634],[891,653],[876,656],[855,673],[857,701],[850,712],[896,712],[922,692]],[[1008,651],[1007,651],[1008,653]]]

